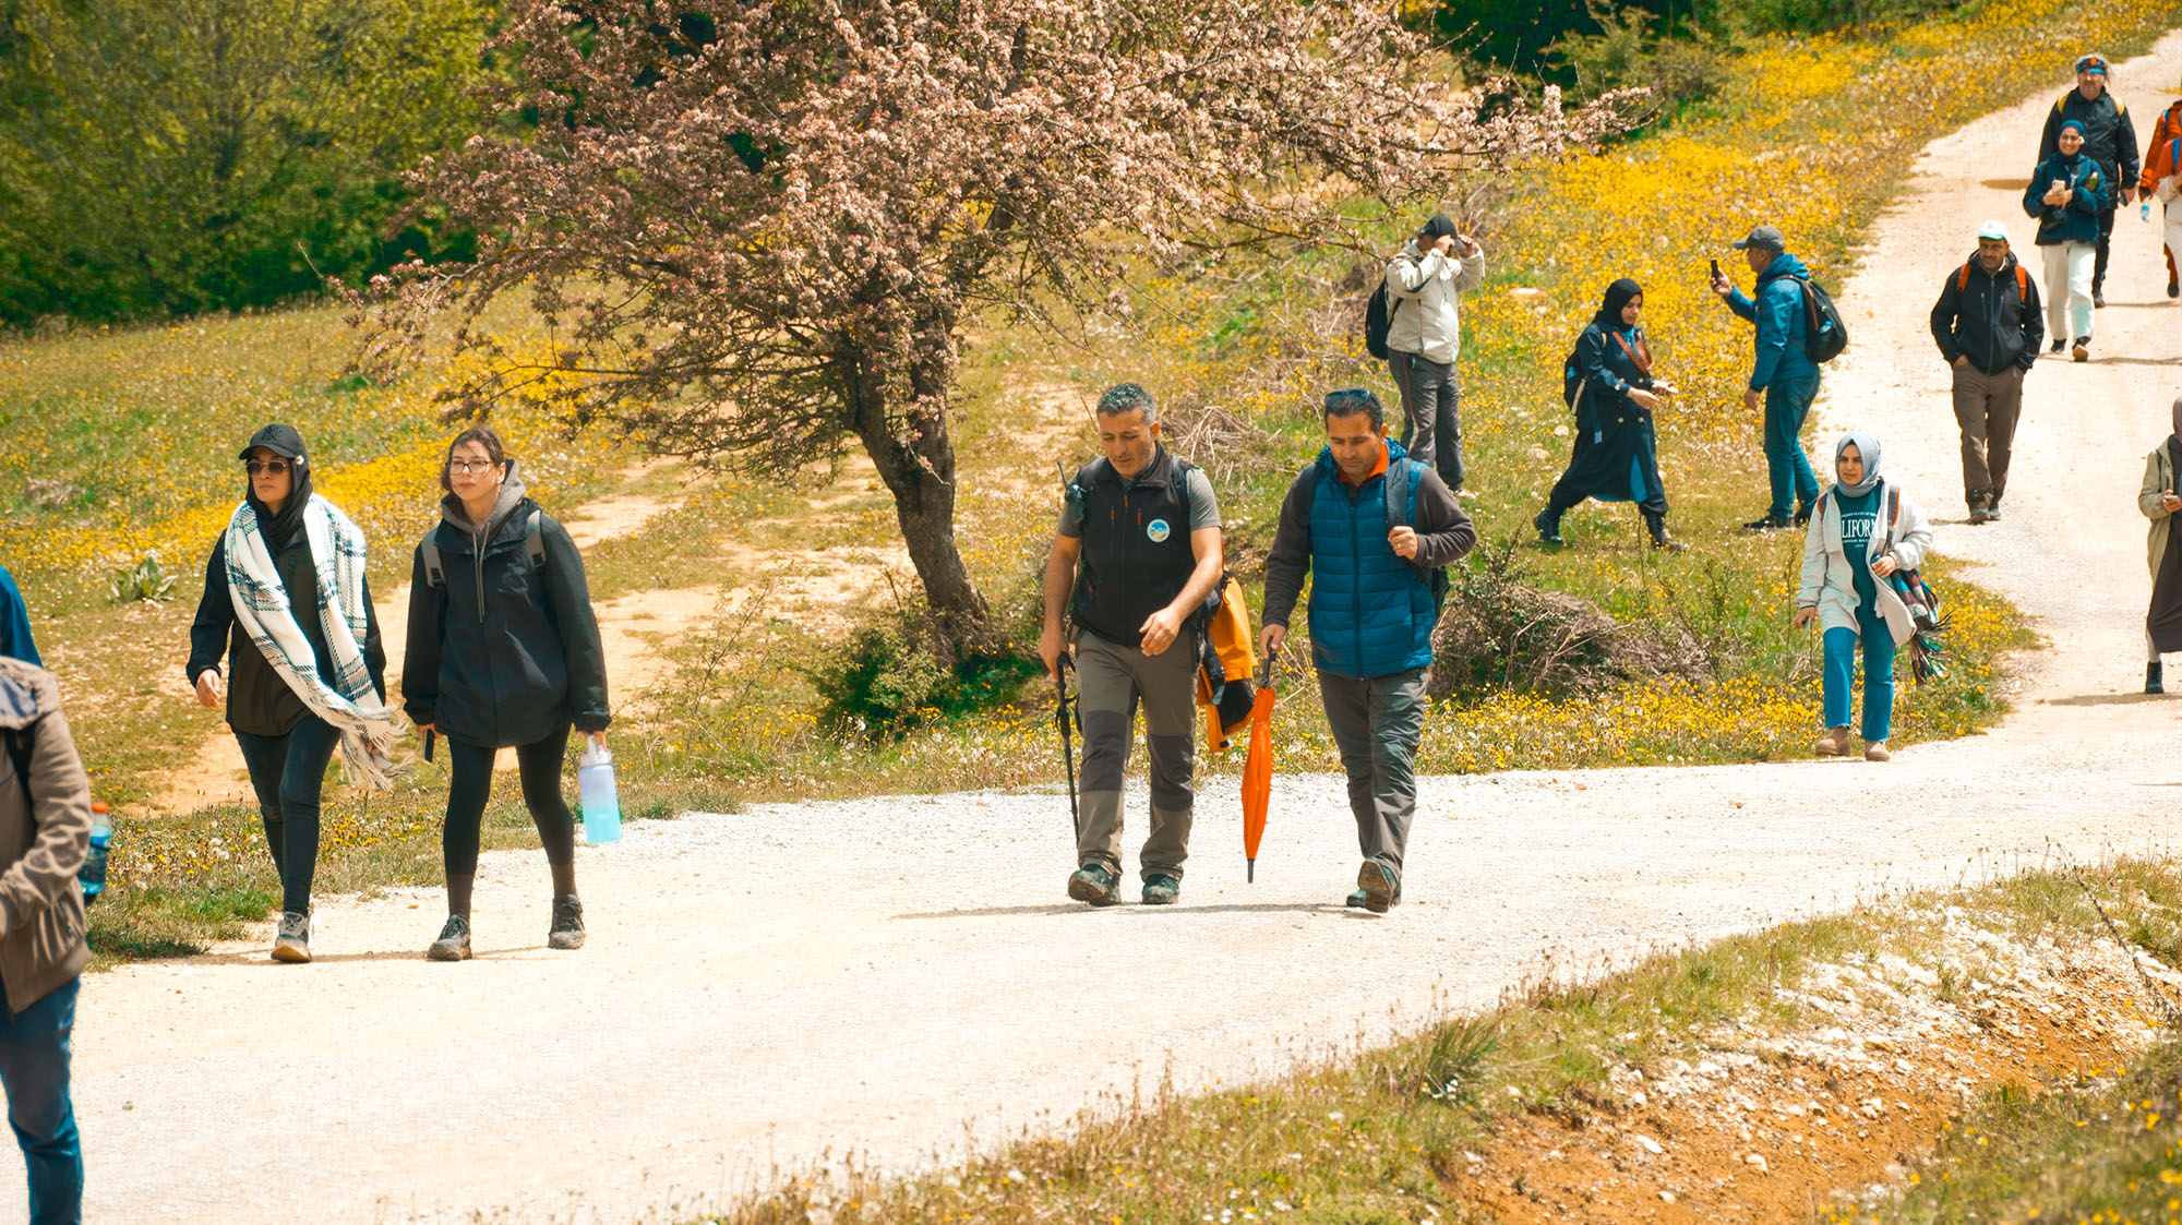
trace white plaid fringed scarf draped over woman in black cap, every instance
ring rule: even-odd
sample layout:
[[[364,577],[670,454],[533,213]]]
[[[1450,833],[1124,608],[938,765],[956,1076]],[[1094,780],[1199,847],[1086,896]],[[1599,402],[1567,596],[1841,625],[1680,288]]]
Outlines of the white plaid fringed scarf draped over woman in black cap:
[[[364,532],[332,501],[319,495],[303,506],[303,532],[310,538],[310,560],[319,591],[310,602],[323,608],[325,645],[332,652],[334,684],[319,676],[319,658],[295,619],[288,589],[281,586],[273,549],[266,547],[257,510],[244,499],[227,521],[227,591],[236,604],[236,621],[266,663],[279,671],[288,689],[305,706],[340,730],[340,761],[351,780],[373,791],[393,787],[386,748],[393,743],[393,719],[386,702],[371,689],[364,667]]]

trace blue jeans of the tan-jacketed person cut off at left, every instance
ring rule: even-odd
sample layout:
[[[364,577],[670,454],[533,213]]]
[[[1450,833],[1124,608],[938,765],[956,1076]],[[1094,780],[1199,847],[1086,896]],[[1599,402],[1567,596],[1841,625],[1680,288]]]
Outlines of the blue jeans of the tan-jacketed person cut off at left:
[[[68,1099],[68,1035],[81,985],[70,979],[17,1014],[0,1007],[0,1083],[31,1175],[31,1225],[83,1221],[83,1138]]]

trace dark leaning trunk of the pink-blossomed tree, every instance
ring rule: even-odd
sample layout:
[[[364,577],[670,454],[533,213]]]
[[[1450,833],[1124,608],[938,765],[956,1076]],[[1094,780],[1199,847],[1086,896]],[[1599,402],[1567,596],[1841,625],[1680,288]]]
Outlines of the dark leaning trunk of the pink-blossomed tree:
[[[871,353],[844,355],[849,368],[849,414],[864,453],[895,495],[901,541],[925,586],[925,599],[956,656],[988,650],[991,617],[969,580],[954,538],[956,460],[947,434],[947,399],[923,395],[906,412],[890,412],[892,388]],[[923,379],[914,379],[923,381]],[[945,388],[945,384],[940,384]]]

